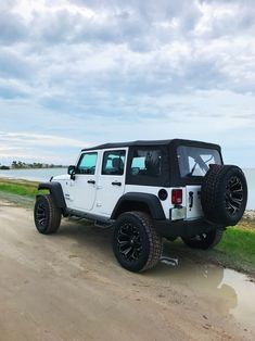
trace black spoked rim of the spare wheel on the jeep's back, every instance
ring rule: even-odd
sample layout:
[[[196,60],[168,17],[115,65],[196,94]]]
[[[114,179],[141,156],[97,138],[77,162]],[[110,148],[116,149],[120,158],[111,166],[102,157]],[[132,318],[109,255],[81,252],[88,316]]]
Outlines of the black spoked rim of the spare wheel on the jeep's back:
[[[226,187],[226,210],[230,215],[238,213],[243,202],[243,186],[238,176],[232,176]]]

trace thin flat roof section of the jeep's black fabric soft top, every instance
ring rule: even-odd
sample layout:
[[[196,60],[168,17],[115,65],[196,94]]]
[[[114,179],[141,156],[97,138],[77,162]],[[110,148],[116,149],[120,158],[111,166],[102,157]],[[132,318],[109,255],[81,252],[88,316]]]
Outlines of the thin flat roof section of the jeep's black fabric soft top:
[[[171,139],[171,140],[138,140],[129,142],[117,142],[117,143],[104,143],[91,148],[85,148],[82,151],[97,150],[97,149],[112,149],[112,148],[124,148],[124,147],[136,147],[136,146],[190,146],[190,147],[201,147],[216,149],[220,151],[220,147],[215,143],[195,141],[195,140],[184,140],[184,139]]]

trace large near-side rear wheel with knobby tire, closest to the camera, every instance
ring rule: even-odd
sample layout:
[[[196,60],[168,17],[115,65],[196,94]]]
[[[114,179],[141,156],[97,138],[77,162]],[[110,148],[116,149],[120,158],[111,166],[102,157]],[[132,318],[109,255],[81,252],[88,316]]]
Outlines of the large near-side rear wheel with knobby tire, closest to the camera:
[[[133,211],[119,215],[115,223],[113,251],[124,268],[133,273],[150,269],[158,263],[162,250],[162,237],[156,232],[149,214]]]

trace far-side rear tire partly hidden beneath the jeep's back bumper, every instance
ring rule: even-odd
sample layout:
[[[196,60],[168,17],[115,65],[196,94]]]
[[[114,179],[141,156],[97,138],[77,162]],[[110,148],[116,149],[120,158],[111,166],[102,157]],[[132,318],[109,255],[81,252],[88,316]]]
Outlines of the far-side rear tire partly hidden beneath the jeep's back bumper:
[[[217,245],[222,236],[224,229],[214,229],[190,238],[181,238],[183,242],[192,249],[207,250]]]

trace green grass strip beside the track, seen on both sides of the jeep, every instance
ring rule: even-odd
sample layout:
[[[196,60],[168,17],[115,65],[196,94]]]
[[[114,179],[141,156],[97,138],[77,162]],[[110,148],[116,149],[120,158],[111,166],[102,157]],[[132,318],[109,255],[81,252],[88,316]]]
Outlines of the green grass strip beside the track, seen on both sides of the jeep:
[[[38,193],[38,182],[0,179],[0,199],[17,205],[33,207]],[[47,191],[44,191],[47,192]],[[235,227],[228,228],[221,242],[211,251],[190,250],[183,244],[171,243],[173,252],[181,252],[195,261],[208,261],[222,266],[255,274],[255,219],[245,218]]]

